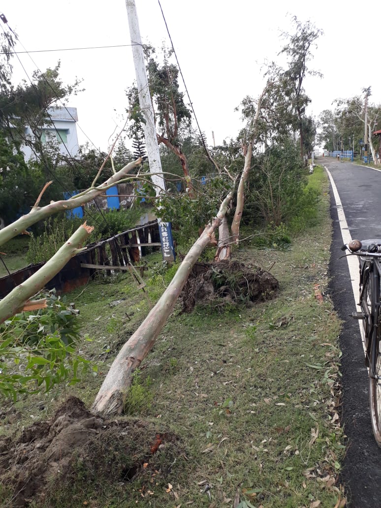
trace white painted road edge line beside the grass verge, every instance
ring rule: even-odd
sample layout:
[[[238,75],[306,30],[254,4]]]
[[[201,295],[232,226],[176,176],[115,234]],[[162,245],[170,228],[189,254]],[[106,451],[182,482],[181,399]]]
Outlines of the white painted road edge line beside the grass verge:
[[[343,243],[349,243],[352,240],[352,237],[351,237],[351,233],[348,229],[348,225],[347,225],[346,218],[345,218],[345,213],[344,213],[344,210],[343,210],[343,207],[341,204],[341,199],[340,199],[337,187],[335,185],[335,182],[333,181],[332,175],[329,172],[328,168],[326,166],[323,166],[323,167],[326,170],[328,177],[330,179],[331,185],[332,185],[333,196],[334,196],[335,202],[336,202],[337,216],[339,219],[339,225],[340,225]],[[377,170],[377,171],[379,171],[379,170]],[[357,305],[357,302],[360,301],[359,262],[358,262],[357,256],[346,256],[346,261],[348,263],[348,270],[350,272],[352,291],[353,291],[353,296],[355,299],[355,305]],[[355,309],[356,309],[356,307],[355,307]],[[361,340],[363,343],[363,350],[364,350],[364,354],[365,354],[366,349],[365,349],[364,331],[363,331],[363,327],[360,324],[360,320],[359,320],[359,328],[360,328]]]

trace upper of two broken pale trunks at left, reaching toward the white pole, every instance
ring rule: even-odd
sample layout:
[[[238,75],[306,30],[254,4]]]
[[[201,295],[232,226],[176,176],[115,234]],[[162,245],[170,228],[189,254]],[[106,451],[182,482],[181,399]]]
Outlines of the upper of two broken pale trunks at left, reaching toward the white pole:
[[[73,199],[54,201],[42,208],[35,205],[29,213],[22,215],[22,217],[15,220],[12,224],[0,230],[0,245],[8,242],[8,240],[19,235],[25,231],[26,228],[29,228],[29,226],[37,223],[39,220],[42,220],[45,217],[49,217],[53,213],[72,210],[77,206],[81,206],[83,203],[88,203],[100,194],[104,193],[105,189],[112,187],[114,183],[124,178],[124,176],[126,176],[133,168],[138,166],[141,161],[141,158],[139,158],[138,160],[131,162],[130,164],[124,166],[124,168],[122,168],[120,171],[110,176],[110,178],[108,178],[101,185],[87,189],[83,193],[76,195],[76,197]]]

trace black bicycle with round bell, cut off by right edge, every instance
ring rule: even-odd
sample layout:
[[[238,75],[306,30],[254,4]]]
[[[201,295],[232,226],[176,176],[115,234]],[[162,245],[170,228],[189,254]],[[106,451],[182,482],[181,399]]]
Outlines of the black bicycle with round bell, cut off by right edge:
[[[360,269],[360,312],[352,317],[363,323],[365,363],[369,375],[369,403],[373,435],[381,447],[381,239],[352,240],[342,246],[358,256]]]

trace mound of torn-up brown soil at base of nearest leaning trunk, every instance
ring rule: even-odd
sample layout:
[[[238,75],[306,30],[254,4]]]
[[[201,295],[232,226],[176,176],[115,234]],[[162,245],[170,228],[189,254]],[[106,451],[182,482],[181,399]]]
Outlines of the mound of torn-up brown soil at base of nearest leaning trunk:
[[[163,457],[162,467],[155,457],[165,449],[173,461],[176,441],[174,434],[157,433],[140,420],[96,418],[80,399],[70,397],[50,421],[35,423],[17,439],[0,439],[0,480],[11,492],[7,506],[49,505],[49,491],[62,483],[78,484],[79,470],[85,484],[107,479],[118,487],[140,473],[158,473]]]

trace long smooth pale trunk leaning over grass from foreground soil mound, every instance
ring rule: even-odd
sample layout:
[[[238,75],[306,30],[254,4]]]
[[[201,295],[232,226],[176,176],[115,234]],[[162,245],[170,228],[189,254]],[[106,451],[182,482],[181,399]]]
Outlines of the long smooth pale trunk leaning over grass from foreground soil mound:
[[[212,223],[205,227],[200,238],[190,248],[168,288],[151,309],[146,319],[121,348],[92,405],[94,413],[108,417],[122,412],[125,395],[131,386],[134,370],[139,367],[155,343],[158,334],[175,306],[192,267],[201,252],[210,243],[214,230],[221,224],[221,220],[232,200],[233,192],[234,189],[221,204]]]

